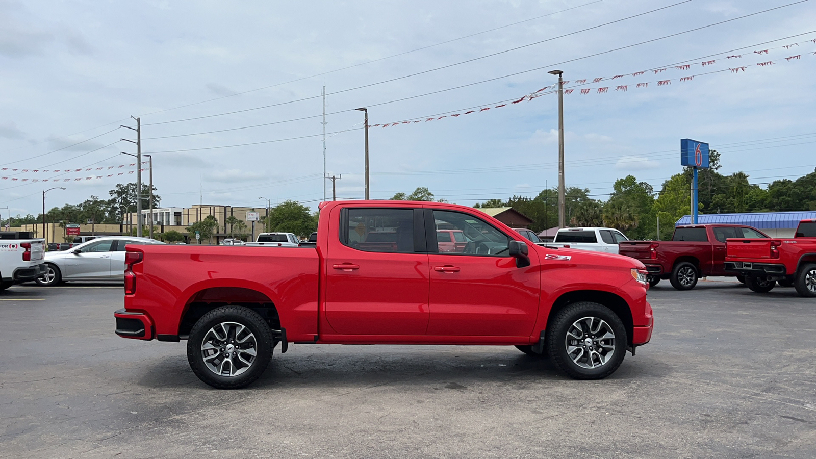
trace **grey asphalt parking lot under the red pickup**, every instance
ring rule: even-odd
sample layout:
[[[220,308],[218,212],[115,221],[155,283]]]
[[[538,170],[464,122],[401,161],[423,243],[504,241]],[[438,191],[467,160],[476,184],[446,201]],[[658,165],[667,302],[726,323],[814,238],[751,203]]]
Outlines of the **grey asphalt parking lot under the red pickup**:
[[[122,287],[0,293],[0,457],[816,457],[816,301],[667,283],[604,381],[499,346],[292,345],[213,390],[113,335]]]

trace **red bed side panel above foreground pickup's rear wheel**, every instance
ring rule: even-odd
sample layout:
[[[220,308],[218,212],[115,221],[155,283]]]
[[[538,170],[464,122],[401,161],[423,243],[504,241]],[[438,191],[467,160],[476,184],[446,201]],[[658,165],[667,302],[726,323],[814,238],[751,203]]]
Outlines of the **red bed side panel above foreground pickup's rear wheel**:
[[[233,289],[235,302],[263,301],[252,292],[266,296],[289,341],[313,341],[317,335],[319,259],[312,248],[136,245],[128,250],[143,252],[144,261],[133,267],[136,293],[125,296],[125,307],[149,312],[159,335],[177,335],[189,303],[203,290],[219,287]],[[251,292],[235,295],[235,288]]]

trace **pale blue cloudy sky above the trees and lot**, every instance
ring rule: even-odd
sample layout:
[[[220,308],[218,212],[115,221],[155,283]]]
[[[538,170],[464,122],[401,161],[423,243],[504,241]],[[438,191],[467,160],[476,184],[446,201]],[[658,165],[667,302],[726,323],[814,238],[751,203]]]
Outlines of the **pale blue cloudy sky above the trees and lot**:
[[[558,180],[553,69],[567,186],[659,189],[681,138],[723,173],[796,178],[816,167],[816,1],[796,1],[0,0],[0,215],[135,181],[131,116],[162,207],[317,208],[324,84],[338,198],[364,195],[361,107],[371,198],[532,197]]]

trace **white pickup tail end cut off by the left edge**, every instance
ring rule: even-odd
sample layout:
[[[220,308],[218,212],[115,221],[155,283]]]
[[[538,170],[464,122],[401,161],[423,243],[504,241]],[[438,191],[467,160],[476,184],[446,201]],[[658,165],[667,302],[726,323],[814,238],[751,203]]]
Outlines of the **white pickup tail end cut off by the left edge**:
[[[0,233],[0,291],[46,274],[44,253],[45,239],[29,238],[28,232]]]

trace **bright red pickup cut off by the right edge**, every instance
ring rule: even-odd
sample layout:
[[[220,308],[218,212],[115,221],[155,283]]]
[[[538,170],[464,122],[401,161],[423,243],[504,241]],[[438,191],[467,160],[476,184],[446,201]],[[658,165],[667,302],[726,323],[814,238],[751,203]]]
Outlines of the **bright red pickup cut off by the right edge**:
[[[778,282],[816,297],[816,220],[803,220],[792,239],[729,239],[725,268],[745,276],[754,292],[770,292]]]

